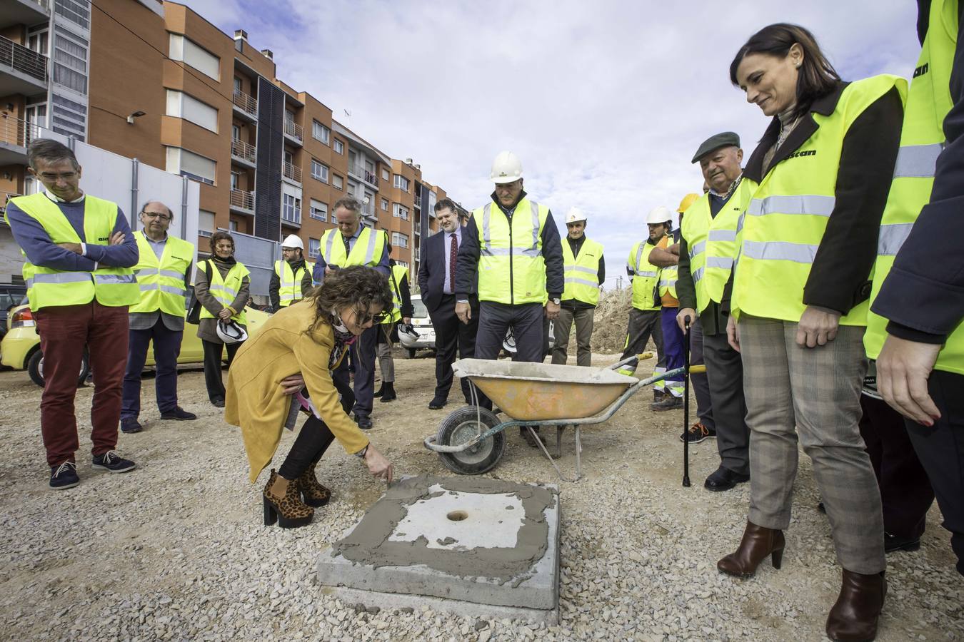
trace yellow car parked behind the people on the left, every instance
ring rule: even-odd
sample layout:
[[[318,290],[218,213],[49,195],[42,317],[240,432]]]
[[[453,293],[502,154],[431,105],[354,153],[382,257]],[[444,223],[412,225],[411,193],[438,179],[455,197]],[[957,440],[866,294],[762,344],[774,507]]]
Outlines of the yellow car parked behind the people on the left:
[[[249,306],[245,311],[248,316],[248,336],[253,337],[260,329],[264,321],[271,316],[267,312],[255,310]],[[30,374],[31,380],[39,386],[43,386],[43,353],[40,352],[40,336],[37,334],[37,325],[34,316],[30,312],[30,307],[21,305],[10,311],[7,319],[7,334],[0,341],[0,363],[8,368],[15,370],[25,370]],[[228,360],[228,351],[225,350],[225,361]],[[201,339],[198,338],[198,326],[187,323],[184,326],[184,338],[181,340],[181,351],[177,357],[178,364],[201,364],[204,362],[204,348],[201,347]],[[153,347],[147,347],[147,366],[154,365]],[[84,352],[84,358],[80,365],[80,372],[77,373],[78,380],[83,381],[91,366]]]

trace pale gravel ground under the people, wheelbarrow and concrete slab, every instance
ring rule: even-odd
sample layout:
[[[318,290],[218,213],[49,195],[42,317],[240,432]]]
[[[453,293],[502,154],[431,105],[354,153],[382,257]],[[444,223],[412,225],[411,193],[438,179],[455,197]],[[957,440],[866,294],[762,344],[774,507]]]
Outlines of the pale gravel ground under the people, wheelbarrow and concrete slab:
[[[446,475],[438,456],[421,445],[444,412],[426,408],[433,361],[397,359],[396,369],[400,398],[375,404],[372,439],[399,474]],[[357,612],[317,585],[314,562],[384,487],[335,445],[318,467],[333,489],[332,503],[304,528],[262,526],[266,475],[248,483],[240,435],[207,404],[201,372],[184,372],[178,383],[181,404],[199,421],[162,423],[148,409],[145,432],[120,436],[120,452],[139,466],[127,475],[94,472],[82,434],[81,485],[53,492],[40,444],[40,389],[25,372],[0,372],[0,637],[824,639],[840,569],[806,456],[783,569],[764,562],[756,578],[722,576],[715,561],[738,543],[749,489],[702,488],[718,461],[712,440],[691,450],[693,487],[682,488],[682,412],[651,413],[649,396],[637,395],[607,424],[585,431],[586,476],[561,483],[560,626],[427,609]],[[152,383],[145,384],[147,398]],[[88,416],[91,396],[91,389],[78,391],[79,417]],[[280,458],[292,440],[285,434]],[[560,465],[572,472],[571,441],[566,449]],[[491,475],[555,479],[518,433]],[[879,640],[964,639],[964,582],[952,570],[949,535],[939,523],[935,507],[922,549],[888,558]]]

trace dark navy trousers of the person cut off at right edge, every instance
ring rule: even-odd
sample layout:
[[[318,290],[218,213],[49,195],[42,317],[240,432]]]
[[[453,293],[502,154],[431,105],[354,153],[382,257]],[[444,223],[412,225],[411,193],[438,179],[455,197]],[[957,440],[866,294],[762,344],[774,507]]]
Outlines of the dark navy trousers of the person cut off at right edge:
[[[927,427],[906,420],[907,433],[951,531],[957,572],[964,575],[964,374],[934,371],[927,381],[941,418]]]

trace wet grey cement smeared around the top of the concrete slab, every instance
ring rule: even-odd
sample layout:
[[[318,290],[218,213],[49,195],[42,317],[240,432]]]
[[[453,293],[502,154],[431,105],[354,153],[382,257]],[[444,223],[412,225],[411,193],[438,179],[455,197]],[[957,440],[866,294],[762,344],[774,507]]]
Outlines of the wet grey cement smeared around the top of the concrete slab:
[[[442,490],[432,491],[433,486]],[[516,546],[446,551],[429,548],[429,542],[423,536],[411,542],[389,541],[409,506],[416,501],[439,497],[446,491],[515,496],[522,502],[524,510]],[[422,564],[461,578],[490,578],[499,583],[515,579],[514,583],[519,583],[531,573],[549,548],[546,510],[555,504],[556,493],[552,488],[485,477],[409,477],[392,485],[385,497],[365,514],[362,522],[335,544],[331,554],[374,568]]]

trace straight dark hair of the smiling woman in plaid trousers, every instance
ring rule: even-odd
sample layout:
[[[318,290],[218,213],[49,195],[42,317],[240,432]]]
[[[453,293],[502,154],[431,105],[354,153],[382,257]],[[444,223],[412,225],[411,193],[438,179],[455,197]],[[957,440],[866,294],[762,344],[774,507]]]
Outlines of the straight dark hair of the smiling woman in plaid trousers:
[[[800,25],[779,22],[763,27],[751,36],[736,52],[733,63],[730,63],[730,82],[739,87],[736,82],[736,67],[748,54],[786,58],[794,44],[803,48],[803,64],[796,81],[796,107],[791,116],[807,113],[817,98],[837,89],[841,77],[820,51],[814,35]]]

